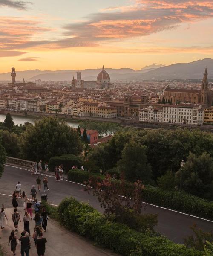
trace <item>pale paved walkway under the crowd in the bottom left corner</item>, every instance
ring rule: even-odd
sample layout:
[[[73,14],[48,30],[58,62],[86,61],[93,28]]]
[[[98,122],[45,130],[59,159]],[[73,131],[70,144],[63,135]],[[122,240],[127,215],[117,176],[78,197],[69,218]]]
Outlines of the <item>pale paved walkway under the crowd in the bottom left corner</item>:
[[[13,208],[5,208],[5,212],[8,218],[8,226],[0,231],[0,244],[6,256],[12,256],[13,253],[8,246],[9,236],[11,230],[14,230],[12,222]],[[20,212],[21,222],[19,223],[17,238],[20,238],[20,233],[23,231],[23,208],[18,208]],[[30,230],[33,234],[35,222],[30,221]],[[116,256],[118,254],[112,253],[109,250],[102,249],[101,247],[95,247],[92,242],[79,236],[76,233],[67,231],[64,227],[60,226],[56,221],[49,220],[47,225],[47,231],[43,232],[44,237],[47,239],[45,256]],[[31,250],[29,256],[37,256],[36,248],[33,238],[30,237]],[[16,247],[16,255],[20,256],[20,245]]]

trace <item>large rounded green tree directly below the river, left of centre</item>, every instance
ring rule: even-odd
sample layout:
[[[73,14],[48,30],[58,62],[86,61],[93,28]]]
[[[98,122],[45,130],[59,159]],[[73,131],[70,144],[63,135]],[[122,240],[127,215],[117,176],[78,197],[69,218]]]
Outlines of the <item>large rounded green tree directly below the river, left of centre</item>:
[[[78,155],[83,147],[76,131],[55,117],[43,117],[33,127],[27,127],[20,137],[24,159],[39,161],[63,154]]]

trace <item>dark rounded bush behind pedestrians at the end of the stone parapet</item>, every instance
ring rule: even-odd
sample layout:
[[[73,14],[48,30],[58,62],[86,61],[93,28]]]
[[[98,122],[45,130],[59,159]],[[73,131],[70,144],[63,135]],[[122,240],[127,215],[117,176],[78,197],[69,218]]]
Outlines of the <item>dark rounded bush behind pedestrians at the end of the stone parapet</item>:
[[[49,160],[49,171],[54,172],[55,166],[59,166],[60,164],[63,164],[63,171],[67,173],[74,165],[81,167],[83,160],[81,157],[73,154],[62,155],[60,157],[51,157]]]

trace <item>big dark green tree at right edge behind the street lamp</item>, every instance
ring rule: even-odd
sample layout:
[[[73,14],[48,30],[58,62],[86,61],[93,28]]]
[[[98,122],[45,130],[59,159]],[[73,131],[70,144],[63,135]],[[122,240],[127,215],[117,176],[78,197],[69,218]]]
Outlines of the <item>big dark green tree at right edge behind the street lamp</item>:
[[[213,161],[209,154],[190,153],[183,169],[176,172],[178,186],[193,195],[212,199]]]

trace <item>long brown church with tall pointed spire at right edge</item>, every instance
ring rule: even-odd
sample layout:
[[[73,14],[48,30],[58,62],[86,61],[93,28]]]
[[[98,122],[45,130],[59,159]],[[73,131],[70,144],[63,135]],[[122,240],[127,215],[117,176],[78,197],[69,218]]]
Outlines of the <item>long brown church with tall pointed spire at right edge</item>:
[[[163,94],[160,99],[164,98],[165,101],[169,100],[171,103],[176,104],[180,102],[200,103],[202,105],[211,106],[213,101],[213,91],[208,87],[207,68],[203,76],[201,90],[193,89],[171,89],[169,85],[164,88]]]

